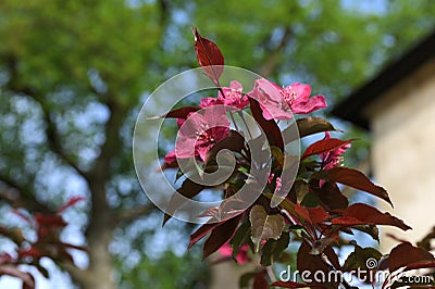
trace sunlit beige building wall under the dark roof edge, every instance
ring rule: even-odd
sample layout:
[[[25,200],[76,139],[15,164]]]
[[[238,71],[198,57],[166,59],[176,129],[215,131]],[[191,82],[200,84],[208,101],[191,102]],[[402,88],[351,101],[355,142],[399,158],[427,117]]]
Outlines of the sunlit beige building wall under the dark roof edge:
[[[383,235],[420,240],[435,225],[435,59],[399,83],[366,110],[373,130],[372,166],[376,183],[395,204],[383,210],[413,229],[382,227]],[[382,238],[386,252],[396,242]]]

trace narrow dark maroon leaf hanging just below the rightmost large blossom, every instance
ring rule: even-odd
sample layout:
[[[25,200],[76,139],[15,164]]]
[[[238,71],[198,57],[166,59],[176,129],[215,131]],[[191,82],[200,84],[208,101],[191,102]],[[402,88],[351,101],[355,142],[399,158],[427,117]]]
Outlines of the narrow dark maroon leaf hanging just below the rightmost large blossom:
[[[273,120],[268,121],[263,117],[263,112],[257,100],[249,98],[249,104],[253,118],[263,129],[264,134],[268,137],[268,140],[270,142],[269,144],[278,147],[282,151],[284,151],[283,135],[275,121]]]

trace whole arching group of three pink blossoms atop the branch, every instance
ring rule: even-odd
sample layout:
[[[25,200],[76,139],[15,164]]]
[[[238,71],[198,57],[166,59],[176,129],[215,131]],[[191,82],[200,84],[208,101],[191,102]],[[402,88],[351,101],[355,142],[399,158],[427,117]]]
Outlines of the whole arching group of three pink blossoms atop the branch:
[[[224,105],[244,110],[252,98],[260,103],[265,120],[290,120],[294,113],[308,114],[326,108],[323,96],[310,98],[310,95],[309,85],[295,83],[282,88],[264,78],[256,80],[253,90],[244,93],[241,84],[233,80],[229,87],[220,89],[217,98],[203,98],[199,104],[202,110],[190,113],[187,120],[177,120],[175,150],[164,160],[167,164],[188,158],[206,161],[207,152],[228,135],[231,123]]]

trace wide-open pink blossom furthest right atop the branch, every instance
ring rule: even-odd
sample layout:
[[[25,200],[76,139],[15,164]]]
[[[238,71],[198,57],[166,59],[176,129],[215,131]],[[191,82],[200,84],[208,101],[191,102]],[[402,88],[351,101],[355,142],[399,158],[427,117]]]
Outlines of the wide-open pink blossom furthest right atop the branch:
[[[293,113],[307,114],[326,108],[324,96],[310,98],[309,85],[295,83],[281,88],[264,78],[256,80],[249,96],[260,102],[265,120],[289,120]]]

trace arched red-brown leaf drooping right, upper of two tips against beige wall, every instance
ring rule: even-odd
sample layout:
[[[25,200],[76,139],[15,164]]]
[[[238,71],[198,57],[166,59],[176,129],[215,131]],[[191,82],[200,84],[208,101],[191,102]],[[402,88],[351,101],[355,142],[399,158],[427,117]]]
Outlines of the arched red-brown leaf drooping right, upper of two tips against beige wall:
[[[334,167],[322,171],[320,173],[320,178],[323,178],[326,181],[339,183],[362,191],[366,191],[387,201],[393,206],[387,191],[383,187],[374,185],[363,173],[357,169],[343,166]]]

